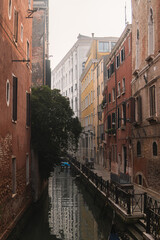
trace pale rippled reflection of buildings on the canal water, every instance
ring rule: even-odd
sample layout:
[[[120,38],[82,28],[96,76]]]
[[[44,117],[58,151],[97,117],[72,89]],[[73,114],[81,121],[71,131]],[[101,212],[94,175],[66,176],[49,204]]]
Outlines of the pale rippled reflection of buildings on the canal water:
[[[80,186],[75,183],[75,177],[71,176],[69,169],[60,171],[57,168],[50,177],[49,227],[50,233],[56,238],[65,240],[108,239],[111,223],[108,221],[108,226],[104,226],[106,235],[104,236],[102,226],[106,224],[105,215],[100,214],[101,209],[91,202],[91,196],[87,192],[87,195],[84,195],[84,190],[81,188],[80,192]]]

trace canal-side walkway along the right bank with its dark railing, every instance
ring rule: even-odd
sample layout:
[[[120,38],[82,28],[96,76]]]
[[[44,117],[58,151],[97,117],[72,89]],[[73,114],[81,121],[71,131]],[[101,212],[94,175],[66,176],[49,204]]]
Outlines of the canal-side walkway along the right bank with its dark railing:
[[[129,190],[121,188],[110,181],[110,172],[98,164],[94,165],[94,169],[87,168],[76,159],[72,159],[71,164],[95,187],[95,191],[106,197],[106,204],[115,209],[124,221],[129,223],[144,219],[146,230],[142,232],[143,238],[136,239],[160,239],[160,201],[157,193],[149,189],[144,191],[138,185]]]

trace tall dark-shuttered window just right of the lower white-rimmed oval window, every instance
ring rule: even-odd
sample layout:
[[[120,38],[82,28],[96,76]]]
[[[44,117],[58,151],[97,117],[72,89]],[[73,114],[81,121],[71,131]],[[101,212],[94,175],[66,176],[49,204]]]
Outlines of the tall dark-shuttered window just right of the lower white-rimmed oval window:
[[[18,90],[18,79],[13,76],[13,105],[12,105],[13,121],[17,121],[17,90]]]

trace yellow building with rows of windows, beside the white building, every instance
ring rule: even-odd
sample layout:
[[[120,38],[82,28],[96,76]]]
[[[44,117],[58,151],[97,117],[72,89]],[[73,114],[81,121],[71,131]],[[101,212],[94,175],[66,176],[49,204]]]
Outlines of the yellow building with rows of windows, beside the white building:
[[[97,88],[94,89],[94,82],[98,81],[97,79],[99,79],[99,76],[94,75],[96,72],[95,68],[98,66],[100,59],[109,54],[116,41],[117,38],[113,37],[96,38],[94,35],[92,36],[92,45],[87,54],[85,69],[80,78],[82,85],[81,124],[84,127],[84,131],[81,136],[80,149],[81,156],[86,162],[93,162],[94,159],[95,161],[98,161],[96,157],[99,156],[96,152],[97,148],[94,147],[95,123],[99,123],[97,121],[98,115],[96,115],[95,112],[99,112],[99,110],[97,110],[99,105],[94,106],[94,103],[98,103],[98,101],[94,101],[94,99],[97,98],[97,96],[99,98],[100,94],[102,95],[101,87],[103,86],[98,85]]]

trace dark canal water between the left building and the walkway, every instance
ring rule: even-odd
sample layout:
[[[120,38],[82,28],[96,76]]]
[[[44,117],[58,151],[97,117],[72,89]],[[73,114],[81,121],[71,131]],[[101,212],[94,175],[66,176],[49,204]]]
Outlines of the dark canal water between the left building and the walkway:
[[[70,169],[57,167],[49,178],[43,205],[18,239],[108,240],[113,212],[99,207],[96,201]],[[124,231],[123,226],[117,229]]]

